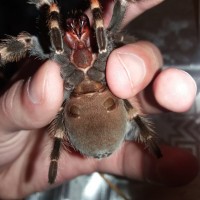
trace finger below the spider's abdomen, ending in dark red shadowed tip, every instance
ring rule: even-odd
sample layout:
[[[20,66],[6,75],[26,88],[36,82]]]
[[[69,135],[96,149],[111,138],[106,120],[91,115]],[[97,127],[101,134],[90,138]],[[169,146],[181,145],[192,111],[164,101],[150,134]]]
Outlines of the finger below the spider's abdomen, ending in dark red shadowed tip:
[[[163,157],[156,159],[140,146],[127,143],[123,153],[99,161],[98,170],[168,186],[183,185],[196,177],[198,161],[191,153],[169,146],[161,149]]]

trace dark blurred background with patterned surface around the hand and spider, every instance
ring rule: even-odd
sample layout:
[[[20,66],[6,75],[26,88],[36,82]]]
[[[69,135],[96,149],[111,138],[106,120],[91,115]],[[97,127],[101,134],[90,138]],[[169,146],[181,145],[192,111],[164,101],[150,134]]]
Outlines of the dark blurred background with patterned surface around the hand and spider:
[[[17,35],[22,30],[37,33],[38,12],[26,0],[1,0],[0,38]],[[58,1],[63,13],[72,8],[87,7],[87,1]],[[164,57],[164,68],[178,67],[190,73],[200,89],[200,3],[199,0],[166,0],[145,12],[127,26],[127,32],[139,39],[154,42]],[[200,161],[200,94],[187,113],[165,113],[152,116],[161,139],[188,149]],[[157,123],[159,122],[159,123]],[[182,187],[168,188],[108,176],[133,200],[199,200],[200,176]],[[95,187],[94,187],[95,186]],[[75,191],[75,192],[74,192]],[[77,192],[79,191],[79,192]],[[28,200],[122,199],[110,190],[98,174],[78,177],[62,186],[37,193]]]

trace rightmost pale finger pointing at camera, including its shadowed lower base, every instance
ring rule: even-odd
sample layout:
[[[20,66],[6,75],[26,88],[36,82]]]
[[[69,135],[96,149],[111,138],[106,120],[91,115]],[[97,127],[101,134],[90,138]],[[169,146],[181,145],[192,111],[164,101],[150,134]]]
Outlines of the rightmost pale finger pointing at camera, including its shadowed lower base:
[[[160,112],[162,108],[185,112],[192,106],[196,93],[196,83],[188,73],[168,68],[159,73],[153,84],[139,97],[142,107],[148,113]]]

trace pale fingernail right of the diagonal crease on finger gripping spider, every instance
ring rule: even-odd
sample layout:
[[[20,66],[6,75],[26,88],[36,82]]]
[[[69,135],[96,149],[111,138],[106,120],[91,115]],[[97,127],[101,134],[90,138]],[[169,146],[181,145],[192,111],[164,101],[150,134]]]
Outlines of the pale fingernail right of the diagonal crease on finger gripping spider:
[[[139,56],[130,53],[118,52],[117,57],[127,75],[131,88],[134,90],[143,82],[146,75],[144,61]]]

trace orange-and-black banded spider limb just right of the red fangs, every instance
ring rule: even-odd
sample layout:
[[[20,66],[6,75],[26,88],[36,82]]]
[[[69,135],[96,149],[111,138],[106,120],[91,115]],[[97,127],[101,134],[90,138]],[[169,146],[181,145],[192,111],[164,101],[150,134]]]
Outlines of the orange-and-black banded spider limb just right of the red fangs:
[[[106,30],[103,24],[103,16],[101,5],[98,0],[90,0],[92,15],[94,18],[95,32],[96,32],[96,40],[99,49],[99,53],[107,52],[107,36]]]

